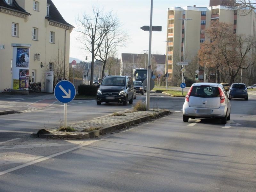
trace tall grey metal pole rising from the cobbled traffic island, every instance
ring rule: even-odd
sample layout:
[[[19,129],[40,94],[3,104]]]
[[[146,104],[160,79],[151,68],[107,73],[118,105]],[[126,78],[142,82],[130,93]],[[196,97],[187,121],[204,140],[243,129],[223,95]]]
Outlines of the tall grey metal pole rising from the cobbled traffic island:
[[[146,96],[146,110],[149,111],[149,95],[150,95],[150,65],[151,65],[151,40],[152,40],[152,18],[153,18],[153,0],[151,0],[150,8],[150,27],[149,27],[149,48],[148,48],[148,76],[147,76],[147,96]]]

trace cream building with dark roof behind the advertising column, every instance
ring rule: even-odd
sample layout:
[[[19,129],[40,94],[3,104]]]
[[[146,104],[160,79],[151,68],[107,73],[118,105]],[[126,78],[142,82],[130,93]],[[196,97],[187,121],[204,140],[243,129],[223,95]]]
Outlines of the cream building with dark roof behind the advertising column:
[[[28,76],[32,82],[41,82],[44,90],[46,71],[57,65],[66,68],[58,76],[68,77],[74,27],[51,0],[0,0],[0,26],[1,92],[8,87],[26,90]]]

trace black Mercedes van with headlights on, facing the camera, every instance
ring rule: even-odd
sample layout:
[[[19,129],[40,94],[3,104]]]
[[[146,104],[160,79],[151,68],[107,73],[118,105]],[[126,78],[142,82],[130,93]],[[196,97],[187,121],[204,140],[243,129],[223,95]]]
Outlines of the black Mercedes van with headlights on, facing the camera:
[[[130,76],[104,76],[97,92],[97,105],[115,102],[127,105],[134,99],[134,87]]]

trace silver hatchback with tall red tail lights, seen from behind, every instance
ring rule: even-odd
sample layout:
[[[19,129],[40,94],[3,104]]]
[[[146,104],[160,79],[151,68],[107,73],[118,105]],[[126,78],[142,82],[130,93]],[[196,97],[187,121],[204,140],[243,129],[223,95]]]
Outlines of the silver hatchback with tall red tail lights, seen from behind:
[[[220,118],[222,124],[230,120],[230,101],[222,84],[194,83],[183,104],[183,121],[189,118]]]

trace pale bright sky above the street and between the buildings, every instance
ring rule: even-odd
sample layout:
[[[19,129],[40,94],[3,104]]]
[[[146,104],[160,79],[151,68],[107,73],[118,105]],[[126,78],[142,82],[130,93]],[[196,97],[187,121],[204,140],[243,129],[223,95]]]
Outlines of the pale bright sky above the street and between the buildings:
[[[92,5],[99,5],[100,8],[116,13],[123,28],[128,32],[130,40],[125,47],[118,48],[117,57],[121,53],[143,53],[148,50],[149,33],[140,29],[149,25],[150,21],[150,0],[52,0],[63,18],[76,27],[76,18],[83,12],[91,12]],[[152,54],[165,54],[167,9],[168,7],[193,6],[208,7],[209,0],[154,0],[153,2],[153,25],[162,26],[162,32],[152,34]],[[85,60],[90,53],[80,49],[76,41],[76,28],[70,34],[70,57]]]

